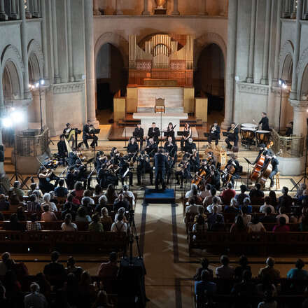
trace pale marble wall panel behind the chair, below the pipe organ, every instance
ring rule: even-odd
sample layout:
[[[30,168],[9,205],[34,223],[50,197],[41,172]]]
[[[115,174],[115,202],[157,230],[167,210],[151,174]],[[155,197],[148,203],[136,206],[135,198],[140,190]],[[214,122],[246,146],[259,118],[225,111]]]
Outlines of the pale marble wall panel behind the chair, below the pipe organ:
[[[183,87],[139,87],[137,111],[154,113],[155,100],[165,99],[166,113],[183,113]]]

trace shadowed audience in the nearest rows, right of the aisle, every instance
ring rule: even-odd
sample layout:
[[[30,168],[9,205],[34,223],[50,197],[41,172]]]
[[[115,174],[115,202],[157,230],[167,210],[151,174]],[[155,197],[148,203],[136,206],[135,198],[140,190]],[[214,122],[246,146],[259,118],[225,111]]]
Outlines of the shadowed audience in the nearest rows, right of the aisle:
[[[267,258],[266,266],[260,268],[255,277],[246,255],[241,255],[238,263],[237,267],[231,266],[228,255],[221,255],[221,265],[216,268],[211,268],[207,258],[201,260],[201,267],[193,277],[197,308],[308,307],[308,272],[304,269],[303,260],[297,259],[295,267],[288,271],[284,280],[274,266],[274,258]],[[220,295],[230,295],[225,297],[227,306],[218,306],[218,302],[224,300]],[[293,297],[289,302],[282,298],[283,306],[280,306],[277,302],[279,295]]]

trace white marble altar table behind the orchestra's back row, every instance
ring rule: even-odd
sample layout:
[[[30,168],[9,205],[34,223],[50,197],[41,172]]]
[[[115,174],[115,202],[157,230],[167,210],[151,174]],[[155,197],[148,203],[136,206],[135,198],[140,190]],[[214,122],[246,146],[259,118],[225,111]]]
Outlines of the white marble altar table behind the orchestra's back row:
[[[162,113],[162,117],[160,118],[160,113],[137,112],[133,113],[132,117],[141,120],[141,127],[145,133],[148,132],[148,128],[152,126],[153,122],[159,128],[162,126],[163,130],[167,129],[169,122],[172,122],[173,125],[176,125],[174,132],[177,133],[180,127],[180,120],[188,119],[188,113]],[[162,125],[160,125],[160,120],[162,120]]]

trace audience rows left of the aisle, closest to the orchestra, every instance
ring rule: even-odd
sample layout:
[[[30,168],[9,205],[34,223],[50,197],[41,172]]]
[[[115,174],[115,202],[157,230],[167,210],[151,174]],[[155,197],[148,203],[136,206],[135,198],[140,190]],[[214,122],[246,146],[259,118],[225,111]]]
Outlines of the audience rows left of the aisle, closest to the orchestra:
[[[8,197],[0,195],[0,221],[9,211],[10,221],[3,224],[3,230],[43,230],[42,222],[63,221],[63,231],[77,231],[78,223],[83,223],[90,232],[127,232],[127,212],[134,204],[134,194],[127,186],[117,192],[110,184],[104,193],[99,186],[93,192],[83,190],[77,182],[69,191],[60,180],[54,191],[42,194],[36,183],[31,183],[25,194],[16,181]]]

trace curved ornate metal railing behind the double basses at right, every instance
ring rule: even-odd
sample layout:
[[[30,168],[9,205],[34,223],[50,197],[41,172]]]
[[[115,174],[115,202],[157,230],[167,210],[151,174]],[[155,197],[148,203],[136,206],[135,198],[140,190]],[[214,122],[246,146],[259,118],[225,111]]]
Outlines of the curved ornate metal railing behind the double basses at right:
[[[283,158],[301,158],[304,156],[304,136],[300,134],[290,135],[290,137],[280,136],[278,132],[272,130],[274,144],[272,151],[279,153]]]

